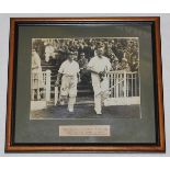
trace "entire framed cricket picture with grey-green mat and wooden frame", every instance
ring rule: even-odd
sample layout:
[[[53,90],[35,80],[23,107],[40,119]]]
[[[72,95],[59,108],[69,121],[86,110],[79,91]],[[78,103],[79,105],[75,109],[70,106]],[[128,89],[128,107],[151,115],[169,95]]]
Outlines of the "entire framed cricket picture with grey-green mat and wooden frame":
[[[12,18],[8,152],[166,151],[160,19]]]

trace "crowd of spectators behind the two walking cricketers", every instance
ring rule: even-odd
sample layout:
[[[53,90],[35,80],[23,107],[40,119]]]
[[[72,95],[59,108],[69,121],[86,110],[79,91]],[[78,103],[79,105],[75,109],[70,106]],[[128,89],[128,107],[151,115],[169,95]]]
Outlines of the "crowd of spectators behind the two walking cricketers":
[[[67,58],[67,52],[75,53],[75,60],[80,69],[84,69],[89,60],[95,56],[95,49],[102,46],[104,56],[112,64],[112,70],[138,71],[138,38],[35,38],[33,48],[41,60],[52,63],[57,68]]]

